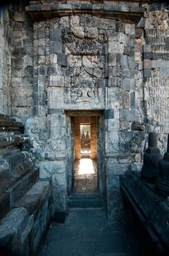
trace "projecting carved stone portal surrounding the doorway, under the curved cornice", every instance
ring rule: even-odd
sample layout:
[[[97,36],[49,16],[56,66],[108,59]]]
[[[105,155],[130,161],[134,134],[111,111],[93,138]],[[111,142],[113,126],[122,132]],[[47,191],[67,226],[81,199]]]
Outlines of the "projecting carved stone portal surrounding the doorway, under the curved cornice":
[[[140,121],[134,39],[143,10],[124,12],[120,7],[117,12],[113,2],[111,8],[103,4],[101,16],[86,12],[84,6],[75,13],[72,5],[67,12],[67,4],[60,10],[56,4],[52,12],[42,6],[40,12],[31,5],[26,8],[34,20],[34,117],[25,127],[40,178],[52,180],[53,217],[68,207],[71,121],[65,110],[105,110],[103,137],[98,140],[103,141],[99,161],[106,173],[102,191],[109,214],[114,214],[111,201],[117,202],[119,176],[141,154],[138,131],[130,127]]]

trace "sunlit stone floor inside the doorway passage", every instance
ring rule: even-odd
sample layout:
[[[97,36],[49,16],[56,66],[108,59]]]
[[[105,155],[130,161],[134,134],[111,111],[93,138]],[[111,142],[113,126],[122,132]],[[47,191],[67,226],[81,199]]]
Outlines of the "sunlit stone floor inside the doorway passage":
[[[98,192],[97,160],[82,158],[74,163],[74,192]]]

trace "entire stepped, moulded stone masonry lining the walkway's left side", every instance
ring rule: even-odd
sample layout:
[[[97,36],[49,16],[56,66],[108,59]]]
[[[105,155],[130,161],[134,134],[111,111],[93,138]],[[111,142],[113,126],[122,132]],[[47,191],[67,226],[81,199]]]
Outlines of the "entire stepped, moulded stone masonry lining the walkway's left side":
[[[0,116],[0,251],[2,255],[34,255],[47,229],[51,182],[39,180],[23,124]],[[25,151],[24,151],[25,150]]]

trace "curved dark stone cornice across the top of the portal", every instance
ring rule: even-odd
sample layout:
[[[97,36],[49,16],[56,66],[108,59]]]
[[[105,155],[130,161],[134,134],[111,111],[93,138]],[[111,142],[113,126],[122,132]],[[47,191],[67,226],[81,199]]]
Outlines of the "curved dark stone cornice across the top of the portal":
[[[117,4],[30,4],[25,11],[35,20],[62,17],[65,15],[92,14],[100,18],[127,20],[137,23],[144,14],[143,7]]]

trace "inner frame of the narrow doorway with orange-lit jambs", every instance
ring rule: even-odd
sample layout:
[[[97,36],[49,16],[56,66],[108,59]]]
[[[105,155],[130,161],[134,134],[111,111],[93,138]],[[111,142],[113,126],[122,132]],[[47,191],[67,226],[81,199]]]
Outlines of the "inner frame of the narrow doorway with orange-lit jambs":
[[[103,134],[101,134],[101,126],[103,124],[103,110],[65,110],[68,122],[71,123],[71,153],[69,152],[68,165],[68,191],[69,195],[74,188],[74,160],[80,159],[80,123],[91,124],[91,159],[98,157],[98,187],[101,192],[105,184],[103,184],[105,172],[103,170]],[[71,118],[71,119],[70,119]],[[67,124],[68,125],[68,124]],[[68,125],[69,126],[69,125]],[[73,158],[72,158],[73,157]],[[71,168],[70,168],[71,165]]]

